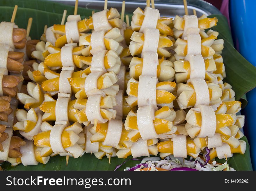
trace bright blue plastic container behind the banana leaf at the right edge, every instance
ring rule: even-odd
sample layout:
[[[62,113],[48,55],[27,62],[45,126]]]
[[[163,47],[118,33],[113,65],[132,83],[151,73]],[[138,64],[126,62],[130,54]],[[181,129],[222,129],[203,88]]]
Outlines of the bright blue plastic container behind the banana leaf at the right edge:
[[[256,66],[255,31],[256,1],[230,0],[230,24],[236,49],[246,60]],[[248,137],[253,169],[256,170],[256,89],[246,94],[248,105],[243,111],[246,115],[245,135]]]

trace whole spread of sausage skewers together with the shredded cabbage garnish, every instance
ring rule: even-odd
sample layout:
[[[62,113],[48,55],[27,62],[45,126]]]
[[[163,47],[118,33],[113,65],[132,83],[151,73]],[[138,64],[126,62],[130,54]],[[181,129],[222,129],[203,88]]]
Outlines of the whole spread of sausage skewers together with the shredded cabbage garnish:
[[[125,23],[124,10],[75,10],[40,40],[1,22],[0,161],[93,153],[147,157],[128,171],[234,170],[215,161],[246,151],[218,19],[160,15],[138,7]]]

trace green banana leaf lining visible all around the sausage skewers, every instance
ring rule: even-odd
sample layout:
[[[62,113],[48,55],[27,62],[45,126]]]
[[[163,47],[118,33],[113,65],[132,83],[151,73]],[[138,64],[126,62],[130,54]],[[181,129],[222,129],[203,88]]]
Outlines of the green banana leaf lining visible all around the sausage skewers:
[[[58,3],[58,6],[48,7],[49,1],[33,1],[33,3],[36,3],[35,5],[33,5],[32,0],[0,0],[0,2],[2,6],[6,5],[5,7],[0,7],[0,22],[10,21],[13,7],[7,6],[13,6],[15,4],[20,6],[15,18],[15,23],[20,28],[26,28],[28,18],[33,17],[33,24],[30,34],[32,39],[40,38],[41,34],[43,33],[45,24],[51,26],[53,24],[60,23],[63,9],[67,9],[68,14],[73,13],[72,6],[63,5],[62,7],[61,4]],[[12,2],[13,4],[8,4],[8,2]],[[21,3],[21,5],[19,3]],[[22,5],[28,8],[22,8]],[[33,8],[38,8],[40,10],[35,10]],[[54,13],[48,12],[50,10]],[[82,17],[88,17],[91,14],[91,10],[86,11],[84,8],[79,8],[78,10],[84,13],[82,14],[78,12]],[[225,48],[222,55],[227,73],[226,81],[233,86],[233,89],[236,92],[236,99],[238,100],[246,92],[255,87],[256,69],[234,49],[232,44],[232,37],[225,17],[223,15],[212,15],[211,17],[214,16],[219,20],[218,25],[214,27],[214,30],[219,32],[218,38],[223,38],[225,40]],[[246,137],[242,139],[247,141]],[[129,158],[131,157],[128,157],[127,159]],[[10,163],[6,162],[3,163],[1,167],[6,170],[113,170],[117,165],[121,164],[125,160],[126,159],[113,157],[111,158],[111,164],[109,164],[109,160],[106,157],[104,157],[102,160],[99,160],[93,154],[91,155],[90,153],[85,153],[82,157],[77,159],[70,157],[68,166],[66,166],[66,157],[55,156],[51,157],[46,165],[39,164],[37,166],[23,166],[20,164],[16,167],[11,167]],[[129,160],[119,170],[122,170],[127,166],[131,167],[136,163],[138,163],[138,161]],[[236,170],[252,170],[248,142],[246,153],[244,155],[234,154],[233,158],[228,160],[228,163]]]

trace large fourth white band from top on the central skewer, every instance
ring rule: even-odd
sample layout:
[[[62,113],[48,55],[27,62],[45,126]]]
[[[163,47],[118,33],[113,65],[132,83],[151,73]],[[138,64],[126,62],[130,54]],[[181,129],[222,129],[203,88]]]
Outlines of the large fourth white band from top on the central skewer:
[[[156,108],[156,92],[157,77],[141,75],[138,85],[138,107],[153,105]]]

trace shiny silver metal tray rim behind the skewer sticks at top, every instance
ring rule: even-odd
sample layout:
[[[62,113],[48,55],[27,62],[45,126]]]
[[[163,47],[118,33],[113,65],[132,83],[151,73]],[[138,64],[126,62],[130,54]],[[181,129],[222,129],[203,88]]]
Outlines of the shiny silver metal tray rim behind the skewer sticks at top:
[[[75,4],[75,0],[48,0],[56,1],[59,3],[64,3],[68,5]],[[211,15],[211,14],[221,14],[221,12],[206,1],[202,0],[187,0],[189,14],[193,14],[193,9],[196,10],[197,15]],[[101,0],[79,0],[79,7],[102,10],[104,8],[104,1]],[[125,1],[125,13],[132,13],[137,7],[142,9],[146,6],[146,0],[137,1]],[[122,1],[108,1],[108,7],[114,7],[119,12],[122,9]],[[155,0],[155,8],[159,9],[161,16],[165,17],[175,17],[176,15],[184,15],[184,5],[183,0]]]

